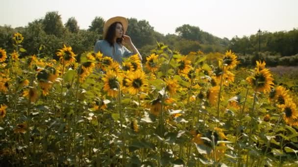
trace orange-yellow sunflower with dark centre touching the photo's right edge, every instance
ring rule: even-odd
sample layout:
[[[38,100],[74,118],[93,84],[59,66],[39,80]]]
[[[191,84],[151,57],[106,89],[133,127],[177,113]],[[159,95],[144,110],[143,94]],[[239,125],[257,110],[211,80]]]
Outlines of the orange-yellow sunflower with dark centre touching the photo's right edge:
[[[293,123],[298,119],[298,113],[296,111],[296,104],[292,101],[285,101],[285,104],[280,105],[281,111],[284,112],[283,119],[288,125],[293,125]]]

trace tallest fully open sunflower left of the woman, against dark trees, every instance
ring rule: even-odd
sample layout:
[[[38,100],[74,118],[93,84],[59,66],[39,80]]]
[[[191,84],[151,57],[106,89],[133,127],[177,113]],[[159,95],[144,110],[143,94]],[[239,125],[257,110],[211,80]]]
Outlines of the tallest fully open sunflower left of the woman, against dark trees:
[[[75,53],[72,51],[72,47],[67,47],[65,44],[63,45],[62,49],[58,49],[59,52],[56,53],[57,56],[59,56],[59,60],[64,65],[69,65],[71,63],[75,63]]]

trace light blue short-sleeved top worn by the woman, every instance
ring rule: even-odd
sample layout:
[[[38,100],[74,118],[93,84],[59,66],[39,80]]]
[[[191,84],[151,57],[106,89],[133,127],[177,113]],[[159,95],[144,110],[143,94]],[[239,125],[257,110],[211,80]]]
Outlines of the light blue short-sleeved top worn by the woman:
[[[111,57],[114,61],[117,61],[118,63],[122,63],[122,58],[129,57],[133,55],[132,52],[130,52],[124,45],[114,43],[114,46],[110,46],[110,43],[106,40],[101,40],[96,42],[94,46],[94,52],[97,53],[100,51],[100,53],[103,54],[103,56]]]

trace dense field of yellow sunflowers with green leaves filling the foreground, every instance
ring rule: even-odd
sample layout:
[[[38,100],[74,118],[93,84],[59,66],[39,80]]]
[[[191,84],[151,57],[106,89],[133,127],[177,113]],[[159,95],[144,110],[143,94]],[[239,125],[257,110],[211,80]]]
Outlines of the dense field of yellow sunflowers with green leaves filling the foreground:
[[[157,43],[122,64],[71,46],[0,48],[0,166],[264,167],[298,164],[298,89],[232,51]],[[6,48],[7,49],[7,48]],[[297,83],[298,84],[298,83]]]

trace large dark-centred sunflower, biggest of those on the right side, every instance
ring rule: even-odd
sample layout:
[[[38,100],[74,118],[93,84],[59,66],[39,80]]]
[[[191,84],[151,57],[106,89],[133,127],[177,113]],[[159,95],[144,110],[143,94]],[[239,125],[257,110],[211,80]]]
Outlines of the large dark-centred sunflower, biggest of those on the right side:
[[[267,68],[263,70],[256,69],[254,75],[248,77],[246,81],[257,92],[269,92],[274,85],[272,75]]]

